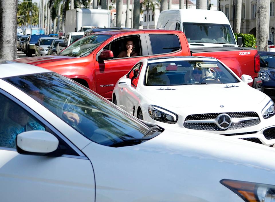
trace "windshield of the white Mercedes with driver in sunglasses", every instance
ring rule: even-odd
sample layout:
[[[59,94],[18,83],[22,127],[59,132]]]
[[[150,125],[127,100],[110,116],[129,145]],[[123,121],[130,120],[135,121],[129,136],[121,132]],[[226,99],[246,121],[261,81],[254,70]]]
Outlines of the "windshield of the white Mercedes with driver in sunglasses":
[[[236,77],[217,61],[149,63],[145,84],[150,86],[237,83]]]

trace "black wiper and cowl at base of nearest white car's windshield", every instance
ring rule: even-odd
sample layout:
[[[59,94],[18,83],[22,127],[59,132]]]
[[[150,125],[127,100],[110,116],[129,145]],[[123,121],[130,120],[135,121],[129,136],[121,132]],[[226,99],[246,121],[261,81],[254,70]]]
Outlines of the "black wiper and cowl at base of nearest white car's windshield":
[[[162,129],[158,126],[152,126],[148,129],[148,131],[146,131],[146,134],[144,135],[143,138],[125,139],[121,142],[116,142],[109,146],[110,147],[125,147],[125,146],[137,145],[137,144],[140,144],[144,141],[150,140],[150,139],[158,136],[160,133],[163,132],[163,130],[164,129]]]

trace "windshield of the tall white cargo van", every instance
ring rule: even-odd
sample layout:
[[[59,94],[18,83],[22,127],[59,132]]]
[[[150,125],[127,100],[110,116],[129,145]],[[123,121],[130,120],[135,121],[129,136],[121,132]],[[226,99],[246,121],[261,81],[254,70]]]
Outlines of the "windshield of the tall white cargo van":
[[[188,43],[236,44],[229,25],[206,23],[182,23]]]

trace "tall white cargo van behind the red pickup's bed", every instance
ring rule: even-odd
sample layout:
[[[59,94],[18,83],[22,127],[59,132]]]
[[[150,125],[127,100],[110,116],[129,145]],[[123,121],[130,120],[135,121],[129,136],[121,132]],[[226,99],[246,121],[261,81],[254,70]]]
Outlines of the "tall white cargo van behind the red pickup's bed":
[[[222,11],[170,9],[160,13],[157,29],[183,31],[189,47],[238,47]]]

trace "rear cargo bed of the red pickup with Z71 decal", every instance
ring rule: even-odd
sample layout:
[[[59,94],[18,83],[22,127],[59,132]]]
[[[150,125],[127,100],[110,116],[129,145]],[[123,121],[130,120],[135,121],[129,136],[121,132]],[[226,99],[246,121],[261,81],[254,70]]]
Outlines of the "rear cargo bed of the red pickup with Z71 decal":
[[[242,74],[250,75],[253,80],[258,77],[255,72],[256,49],[239,47],[202,47],[190,49],[193,56],[206,56],[219,59],[240,78]],[[252,86],[252,83],[249,83]]]

